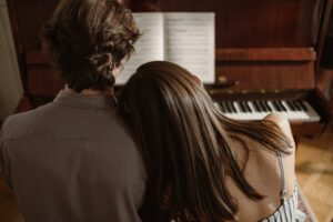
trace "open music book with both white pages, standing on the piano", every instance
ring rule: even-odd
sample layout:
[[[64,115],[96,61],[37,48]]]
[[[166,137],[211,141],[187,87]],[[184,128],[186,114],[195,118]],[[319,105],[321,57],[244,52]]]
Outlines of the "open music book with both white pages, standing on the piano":
[[[133,16],[142,36],[115,84],[124,84],[139,65],[157,60],[178,63],[204,83],[214,82],[214,13],[140,12]]]

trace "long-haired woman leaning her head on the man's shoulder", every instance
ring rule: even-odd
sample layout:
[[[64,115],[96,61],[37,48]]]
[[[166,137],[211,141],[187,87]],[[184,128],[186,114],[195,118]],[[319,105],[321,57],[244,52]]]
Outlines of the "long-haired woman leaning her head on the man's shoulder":
[[[295,145],[282,117],[228,119],[198,78],[164,61],[141,65],[119,105],[148,169],[143,220],[295,221]]]

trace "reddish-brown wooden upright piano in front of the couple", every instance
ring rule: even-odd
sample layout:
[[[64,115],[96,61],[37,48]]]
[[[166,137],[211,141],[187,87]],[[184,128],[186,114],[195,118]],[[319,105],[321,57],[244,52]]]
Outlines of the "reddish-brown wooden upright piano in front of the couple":
[[[26,95],[20,110],[63,87],[40,51],[40,28],[57,0],[8,0]],[[315,88],[332,0],[128,0],[132,11],[215,12],[215,83],[206,85],[235,119],[285,114],[294,135],[314,135],[330,119]]]

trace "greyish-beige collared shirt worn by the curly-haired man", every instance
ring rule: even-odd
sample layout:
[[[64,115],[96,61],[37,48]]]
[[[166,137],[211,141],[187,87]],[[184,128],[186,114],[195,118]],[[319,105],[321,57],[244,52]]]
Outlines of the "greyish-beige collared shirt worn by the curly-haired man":
[[[60,91],[53,102],[9,117],[0,135],[0,176],[27,222],[135,222],[145,170],[105,95]]]

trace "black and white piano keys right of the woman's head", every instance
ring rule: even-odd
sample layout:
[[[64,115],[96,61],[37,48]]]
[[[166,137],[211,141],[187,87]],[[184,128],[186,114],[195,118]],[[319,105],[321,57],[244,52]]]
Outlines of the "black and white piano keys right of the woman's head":
[[[321,117],[306,101],[223,101],[215,102],[222,113],[236,120],[261,120],[272,112],[283,114],[289,121],[319,122]]]

